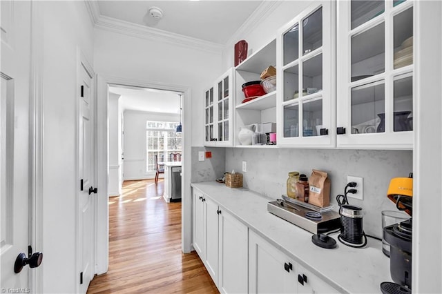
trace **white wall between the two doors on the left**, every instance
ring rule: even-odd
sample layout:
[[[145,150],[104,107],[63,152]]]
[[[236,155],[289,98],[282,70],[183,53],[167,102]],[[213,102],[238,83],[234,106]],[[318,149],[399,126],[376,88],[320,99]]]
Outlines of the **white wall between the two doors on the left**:
[[[93,63],[93,26],[83,1],[33,1],[43,28],[43,293],[75,293],[77,48]]]

